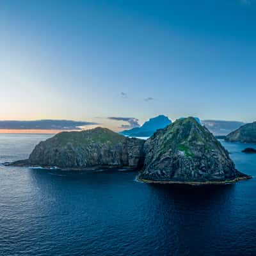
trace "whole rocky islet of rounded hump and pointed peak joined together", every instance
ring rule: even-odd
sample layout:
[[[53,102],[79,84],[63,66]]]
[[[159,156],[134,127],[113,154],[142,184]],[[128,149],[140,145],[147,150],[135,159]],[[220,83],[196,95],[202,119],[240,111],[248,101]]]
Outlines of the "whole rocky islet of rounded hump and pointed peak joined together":
[[[227,150],[193,117],[176,120],[146,141],[100,127],[61,132],[36,145],[29,159],[12,165],[132,168],[139,170],[138,181],[163,184],[225,184],[251,178],[236,170]]]

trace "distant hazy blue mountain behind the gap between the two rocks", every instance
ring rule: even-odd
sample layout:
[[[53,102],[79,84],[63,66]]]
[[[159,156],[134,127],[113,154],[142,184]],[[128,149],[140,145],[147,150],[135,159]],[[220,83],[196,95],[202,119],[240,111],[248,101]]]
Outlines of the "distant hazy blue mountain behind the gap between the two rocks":
[[[150,118],[150,120],[145,122],[141,127],[122,131],[120,133],[126,136],[149,137],[152,136],[157,129],[163,129],[170,124],[172,124],[172,121],[167,116],[159,115],[154,118]]]

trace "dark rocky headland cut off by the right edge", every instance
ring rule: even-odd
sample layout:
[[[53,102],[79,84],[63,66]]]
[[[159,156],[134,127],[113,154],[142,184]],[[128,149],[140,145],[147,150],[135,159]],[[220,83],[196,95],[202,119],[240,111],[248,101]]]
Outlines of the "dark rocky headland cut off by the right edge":
[[[227,141],[256,143],[256,122],[246,124],[227,135]]]

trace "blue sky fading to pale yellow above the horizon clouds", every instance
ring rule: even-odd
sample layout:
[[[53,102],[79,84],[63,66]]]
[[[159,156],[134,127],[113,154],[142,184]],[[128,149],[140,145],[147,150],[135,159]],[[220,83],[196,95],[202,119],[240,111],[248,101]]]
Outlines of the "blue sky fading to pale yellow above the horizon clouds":
[[[255,28],[256,0],[1,0],[0,120],[253,122]]]

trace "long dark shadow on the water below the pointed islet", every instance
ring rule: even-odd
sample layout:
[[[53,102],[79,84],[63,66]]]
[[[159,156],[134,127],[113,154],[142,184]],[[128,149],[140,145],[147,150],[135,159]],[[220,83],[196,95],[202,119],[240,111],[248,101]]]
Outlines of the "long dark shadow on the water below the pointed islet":
[[[230,228],[235,186],[150,184],[154,205],[148,219],[152,226],[159,227],[158,236],[174,255],[207,255],[205,252],[219,245],[217,237],[226,231],[223,223],[227,232]],[[216,240],[212,241],[212,237]]]

